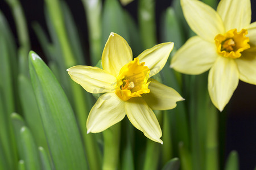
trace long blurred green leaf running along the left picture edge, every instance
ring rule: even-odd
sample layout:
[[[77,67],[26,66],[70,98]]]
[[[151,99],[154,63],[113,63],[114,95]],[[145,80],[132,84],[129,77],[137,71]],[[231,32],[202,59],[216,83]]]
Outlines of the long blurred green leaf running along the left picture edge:
[[[15,141],[13,128],[11,126],[10,114],[15,111],[13,80],[11,75],[10,55],[7,42],[4,36],[0,35],[0,118],[1,118],[1,142],[5,150],[7,163],[10,168],[14,168],[16,159]]]

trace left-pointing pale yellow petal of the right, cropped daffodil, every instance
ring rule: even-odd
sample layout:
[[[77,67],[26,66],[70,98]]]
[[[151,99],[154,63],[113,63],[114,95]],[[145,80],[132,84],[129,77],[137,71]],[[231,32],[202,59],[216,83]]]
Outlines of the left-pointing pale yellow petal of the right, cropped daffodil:
[[[201,74],[210,69],[217,56],[215,44],[193,36],[177,50],[171,67],[180,73]]]

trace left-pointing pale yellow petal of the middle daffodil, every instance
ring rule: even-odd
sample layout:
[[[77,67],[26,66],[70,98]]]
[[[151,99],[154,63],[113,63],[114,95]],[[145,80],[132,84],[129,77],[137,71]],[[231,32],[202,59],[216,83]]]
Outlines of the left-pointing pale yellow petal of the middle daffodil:
[[[115,90],[115,76],[98,67],[73,66],[67,71],[76,83],[92,94],[114,92]]]

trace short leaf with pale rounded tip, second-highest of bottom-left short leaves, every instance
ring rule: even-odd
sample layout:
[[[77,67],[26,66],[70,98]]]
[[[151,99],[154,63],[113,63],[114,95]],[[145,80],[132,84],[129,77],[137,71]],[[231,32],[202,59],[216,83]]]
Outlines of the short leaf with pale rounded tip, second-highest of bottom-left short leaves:
[[[30,130],[23,126],[20,129],[20,142],[22,144],[21,158],[26,162],[25,167],[27,170],[41,169],[39,161],[38,150],[36,149],[35,141],[32,137]]]

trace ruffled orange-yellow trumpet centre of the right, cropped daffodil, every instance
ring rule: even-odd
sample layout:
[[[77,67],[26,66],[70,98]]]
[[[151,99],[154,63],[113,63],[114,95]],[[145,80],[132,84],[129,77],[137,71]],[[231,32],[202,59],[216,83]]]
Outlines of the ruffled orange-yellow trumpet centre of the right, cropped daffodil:
[[[231,29],[224,35],[218,34],[214,40],[217,46],[217,52],[223,57],[239,58],[241,52],[250,48],[249,37],[246,37],[247,29],[237,32],[237,29]]]

